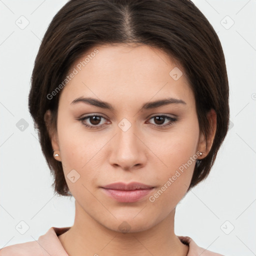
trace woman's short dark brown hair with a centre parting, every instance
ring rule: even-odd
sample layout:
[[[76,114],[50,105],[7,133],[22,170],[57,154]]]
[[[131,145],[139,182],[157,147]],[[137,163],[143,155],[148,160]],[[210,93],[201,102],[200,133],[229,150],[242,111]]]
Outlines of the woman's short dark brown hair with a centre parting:
[[[41,41],[31,76],[29,112],[38,130],[54,191],[70,196],[61,162],[53,157],[44,113],[53,113],[56,128],[60,84],[72,64],[93,45],[137,42],[167,52],[183,67],[195,102],[200,131],[207,138],[206,113],[213,108],[217,123],[209,153],[196,159],[189,189],[204,179],[227,133],[228,80],[216,32],[190,0],[70,0],[53,17]],[[188,189],[188,190],[189,190]]]

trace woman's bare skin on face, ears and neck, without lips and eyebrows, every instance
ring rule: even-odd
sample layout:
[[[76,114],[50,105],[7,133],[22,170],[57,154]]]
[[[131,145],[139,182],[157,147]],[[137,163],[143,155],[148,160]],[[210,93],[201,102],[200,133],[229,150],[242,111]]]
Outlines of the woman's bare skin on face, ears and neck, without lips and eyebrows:
[[[195,161],[171,183],[155,201],[155,194],[179,166],[196,151],[208,153],[216,129],[216,115],[207,115],[212,131],[208,148],[199,132],[195,99],[183,75],[174,80],[169,72],[178,66],[166,53],[147,45],[112,44],[91,48],[99,52],[62,88],[57,130],[49,127],[52,148],[59,153],[65,179],[75,198],[74,224],[58,236],[71,256],[78,255],[187,255],[188,246],[174,233],[177,203],[186,194]],[[70,68],[84,60],[78,59]],[[182,71],[182,67],[178,66]],[[171,103],[140,111],[143,103],[166,97],[182,99],[186,104]],[[78,102],[92,97],[110,103],[113,110]],[[78,120],[95,114],[104,118]],[[167,115],[157,122],[153,116]],[[126,118],[131,126],[123,131],[118,123]],[[97,125],[90,129],[83,123]],[[68,134],[68,135],[67,135]],[[75,169],[80,177],[73,183],[67,178]],[[122,181],[137,181],[155,188],[137,202],[118,202],[99,186]],[[123,221],[128,230],[118,227]],[[97,253],[97,254],[96,254]]]

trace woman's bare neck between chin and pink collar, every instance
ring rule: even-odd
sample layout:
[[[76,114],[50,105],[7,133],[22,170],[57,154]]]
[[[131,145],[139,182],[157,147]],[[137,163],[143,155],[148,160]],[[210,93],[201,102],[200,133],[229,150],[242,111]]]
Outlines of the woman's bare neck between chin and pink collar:
[[[58,238],[69,256],[185,256],[188,246],[174,234],[174,213],[149,229],[124,233],[101,225],[75,201],[74,224]]]

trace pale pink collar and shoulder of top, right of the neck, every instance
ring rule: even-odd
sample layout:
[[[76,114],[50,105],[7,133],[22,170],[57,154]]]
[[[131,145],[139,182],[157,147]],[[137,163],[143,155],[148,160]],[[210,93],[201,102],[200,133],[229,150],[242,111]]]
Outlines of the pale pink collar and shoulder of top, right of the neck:
[[[198,246],[194,240],[189,236],[179,236],[181,242],[184,244],[187,244],[189,246],[187,256],[224,256],[222,254],[204,249],[200,246]]]

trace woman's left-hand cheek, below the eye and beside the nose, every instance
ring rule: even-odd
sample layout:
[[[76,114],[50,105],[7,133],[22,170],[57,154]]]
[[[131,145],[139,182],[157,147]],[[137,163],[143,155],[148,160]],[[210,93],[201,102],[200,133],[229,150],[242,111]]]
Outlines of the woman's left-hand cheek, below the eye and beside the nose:
[[[65,122],[65,125],[61,125]],[[71,120],[60,113],[58,119],[58,140],[63,172],[71,193],[83,191],[86,187],[96,183],[100,170],[100,159],[103,147],[109,140],[108,136],[97,136],[96,132],[85,132],[84,127],[77,120]],[[102,158],[103,159],[103,158]],[[71,172],[71,170],[75,170]],[[71,174],[79,177],[74,183],[68,178]]]

